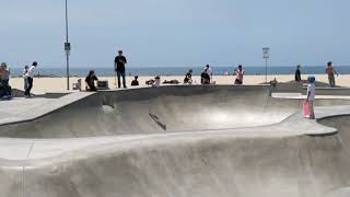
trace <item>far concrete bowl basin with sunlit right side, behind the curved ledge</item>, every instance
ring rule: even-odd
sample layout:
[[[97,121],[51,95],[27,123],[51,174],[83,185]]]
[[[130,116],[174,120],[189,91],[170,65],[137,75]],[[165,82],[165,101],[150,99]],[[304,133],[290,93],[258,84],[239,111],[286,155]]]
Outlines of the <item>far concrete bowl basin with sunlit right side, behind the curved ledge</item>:
[[[332,101],[332,104],[346,101]],[[349,102],[348,102],[349,103]],[[328,105],[323,100],[318,105]],[[269,86],[163,86],[100,92],[39,119],[1,127],[15,138],[80,138],[256,127],[282,121],[299,100],[270,96]]]

